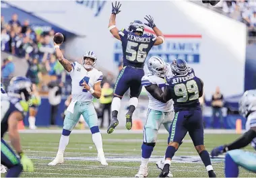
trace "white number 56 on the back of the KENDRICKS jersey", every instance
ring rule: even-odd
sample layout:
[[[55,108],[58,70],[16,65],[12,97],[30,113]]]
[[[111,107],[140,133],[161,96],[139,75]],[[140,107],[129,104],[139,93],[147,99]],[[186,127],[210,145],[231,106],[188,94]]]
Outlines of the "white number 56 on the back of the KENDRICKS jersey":
[[[136,48],[138,48],[137,51],[135,50]],[[148,48],[148,44],[137,44],[136,42],[128,41],[126,53],[130,55],[126,55],[127,60],[133,62],[137,60],[137,62],[143,63],[148,55],[147,52],[145,51],[146,48]]]

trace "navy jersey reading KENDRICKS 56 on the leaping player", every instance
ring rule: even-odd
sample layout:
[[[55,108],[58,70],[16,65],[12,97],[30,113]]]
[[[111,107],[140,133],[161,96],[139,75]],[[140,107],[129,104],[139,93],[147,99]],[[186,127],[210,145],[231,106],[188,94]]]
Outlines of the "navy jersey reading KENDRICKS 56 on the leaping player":
[[[123,66],[134,66],[143,69],[148,52],[156,42],[153,34],[138,36],[125,29],[119,31],[123,47]]]

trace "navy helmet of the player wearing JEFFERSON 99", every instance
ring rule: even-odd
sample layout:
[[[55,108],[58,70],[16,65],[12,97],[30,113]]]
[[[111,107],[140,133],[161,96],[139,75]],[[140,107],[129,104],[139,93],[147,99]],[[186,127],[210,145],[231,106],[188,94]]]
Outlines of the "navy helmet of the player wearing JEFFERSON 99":
[[[187,62],[183,59],[174,59],[172,64],[170,64],[170,68],[172,69],[173,75],[187,75],[189,71],[189,67],[187,66]]]

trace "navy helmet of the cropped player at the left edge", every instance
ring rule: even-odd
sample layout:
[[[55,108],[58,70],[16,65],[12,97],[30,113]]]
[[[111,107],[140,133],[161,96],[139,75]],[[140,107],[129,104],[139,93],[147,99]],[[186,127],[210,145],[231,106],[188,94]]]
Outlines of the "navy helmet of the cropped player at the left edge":
[[[32,95],[32,82],[26,77],[13,77],[9,83],[8,95],[28,101]]]

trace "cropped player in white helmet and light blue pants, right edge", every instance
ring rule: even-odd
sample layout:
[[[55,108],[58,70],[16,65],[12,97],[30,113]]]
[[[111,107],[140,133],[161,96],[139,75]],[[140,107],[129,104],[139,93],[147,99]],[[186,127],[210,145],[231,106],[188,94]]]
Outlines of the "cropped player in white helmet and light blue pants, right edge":
[[[248,171],[256,173],[256,154],[239,150],[251,143],[256,150],[256,89],[245,91],[240,103],[239,113],[247,118],[245,134],[230,144],[224,144],[214,148],[211,152],[212,157],[226,152],[225,157],[225,176],[238,177],[241,166]]]

